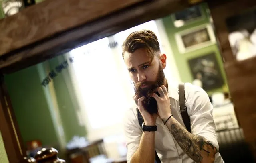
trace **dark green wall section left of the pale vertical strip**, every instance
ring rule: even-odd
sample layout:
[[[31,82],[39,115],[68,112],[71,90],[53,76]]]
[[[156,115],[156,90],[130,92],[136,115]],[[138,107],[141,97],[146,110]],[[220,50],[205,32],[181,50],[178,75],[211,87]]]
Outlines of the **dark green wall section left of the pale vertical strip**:
[[[43,145],[57,145],[36,66],[6,75],[5,80],[23,141],[39,139]]]

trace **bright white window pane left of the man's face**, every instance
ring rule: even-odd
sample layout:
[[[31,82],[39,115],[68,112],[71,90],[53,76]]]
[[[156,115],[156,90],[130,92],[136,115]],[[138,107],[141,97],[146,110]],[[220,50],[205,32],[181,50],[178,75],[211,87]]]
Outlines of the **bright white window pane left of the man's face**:
[[[120,122],[121,116],[116,115],[123,114],[132,105],[131,100],[125,98],[126,92],[108,43],[108,38],[104,38],[70,52],[74,57],[73,67],[84,109],[91,128],[95,129]]]

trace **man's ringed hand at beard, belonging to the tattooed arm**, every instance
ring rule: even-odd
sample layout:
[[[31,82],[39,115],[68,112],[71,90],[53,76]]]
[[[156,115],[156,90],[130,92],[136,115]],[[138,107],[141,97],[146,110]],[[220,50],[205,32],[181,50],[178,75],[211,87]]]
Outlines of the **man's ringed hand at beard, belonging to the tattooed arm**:
[[[171,106],[170,98],[167,91],[167,88],[164,85],[158,88],[157,92],[160,94],[158,96],[156,93],[153,93],[152,97],[157,101],[158,115],[165,122],[169,116],[171,116]]]

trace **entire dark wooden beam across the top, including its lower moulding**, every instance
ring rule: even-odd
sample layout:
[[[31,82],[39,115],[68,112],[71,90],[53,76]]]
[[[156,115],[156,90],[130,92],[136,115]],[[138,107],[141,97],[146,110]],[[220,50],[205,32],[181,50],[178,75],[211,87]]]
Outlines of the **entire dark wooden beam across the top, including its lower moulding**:
[[[125,5],[119,4],[119,0],[108,0],[106,1],[107,4],[105,4],[105,6],[109,6],[109,4],[111,4],[110,8],[112,8],[112,11],[110,9],[106,9],[107,7],[102,8],[102,5],[98,6],[95,1],[90,4],[90,8],[88,8],[87,11],[87,7],[79,8],[78,6],[80,5],[80,3],[81,5],[86,6],[85,2],[92,1],[75,0],[75,2],[79,1],[79,3],[77,3],[76,5],[65,5],[65,8],[59,8],[57,9],[58,12],[55,13],[52,7],[47,7],[48,5],[46,5],[46,2],[48,2],[49,5],[54,2],[53,6],[56,6],[56,2],[52,0],[49,1],[50,2],[46,0],[45,4],[38,4],[38,6],[40,5],[40,7],[38,8],[36,7],[37,5],[32,6],[34,7],[33,10],[31,7],[31,14],[34,13],[35,15],[35,17],[33,17],[33,21],[26,18],[22,20],[22,23],[27,24],[27,26],[30,26],[31,23],[35,24],[32,26],[36,26],[36,29],[34,29],[33,27],[29,27],[30,32],[24,32],[20,35],[14,35],[14,38],[17,39],[16,41],[14,39],[8,41],[10,40],[10,33],[8,33],[5,28],[2,28],[4,30],[4,33],[6,34],[5,37],[0,37],[0,40],[7,40],[7,42],[9,42],[11,45],[9,46],[4,43],[7,46],[6,48],[4,45],[0,44],[0,71],[2,71],[3,73],[11,73],[17,71],[24,67],[28,67],[36,63],[42,62],[46,59],[52,58],[58,54],[70,51],[71,49],[74,49],[75,47],[78,47],[80,45],[89,43],[91,41],[96,41],[97,39],[113,35],[117,32],[123,31],[138,24],[147,22],[149,20],[161,18],[163,16],[167,16],[173,12],[191,6],[191,3],[188,0],[125,0],[125,8]],[[56,1],[59,2],[59,0]],[[67,4],[69,4],[70,1],[67,1]],[[100,1],[105,2],[105,0],[98,0],[98,2]],[[102,4],[104,3],[102,2]],[[47,10],[42,9],[44,8],[44,5],[48,8]],[[61,6],[61,4],[59,5]],[[42,10],[40,11],[41,15],[36,14],[36,11],[34,11],[36,9]],[[107,11],[103,12],[99,9]],[[66,10],[69,11],[68,14],[66,13]],[[75,10],[79,10],[79,12],[75,12]],[[93,10],[96,10],[101,14],[98,14]],[[17,14],[17,17],[22,17],[22,15],[29,12],[30,10],[24,11],[24,13],[21,14],[18,13],[20,14],[20,16],[18,16]],[[58,18],[50,18],[52,12],[58,14]],[[83,14],[83,16],[81,16],[81,14]],[[93,14],[99,15],[101,17],[93,16],[92,18],[90,18]],[[83,17],[86,17],[85,15],[89,18],[83,19]],[[7,19],[9,22],[11,22],[11,24],[14,24],[14,18],[15,17]],[[5,20],[5,23],[0,22],[0,29],[2,24],[7,24],[8,21]],[[69,22],[69,26],[65,25],[64,22]],[[21,28],[26,28],[26,26],[21,26]],[[55,33],[48,32],[51,30],[54,30]],[[21,32],[22,30],[20,29],[19,31]],[[50,35],[50,33],[53,33],[54,35]],[[38,39],[39,37],[41,38],[41,40]],[[5,48],[2,49],[1,46]],[[13,51],[10,51],[10,49],[12,49]]]

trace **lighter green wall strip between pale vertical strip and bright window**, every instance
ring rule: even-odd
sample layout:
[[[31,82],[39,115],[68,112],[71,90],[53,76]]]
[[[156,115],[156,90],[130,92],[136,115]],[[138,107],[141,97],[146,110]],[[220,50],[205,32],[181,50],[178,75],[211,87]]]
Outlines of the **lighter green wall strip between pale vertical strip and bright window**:
[[[62,55],[49,60],[50,69],[54,70],[55,67],[63,61],[65,61],[65,58]],[[75,112],[79,108],[79,105],[77,98],[75,98],[76,94],[72,86],[68,69],[63,69],[61,73],[58,73],[54,78],[53,83],[66,141],[70,141],[74,135],[85,136],[85,126],[79,125],[77,114]]]

